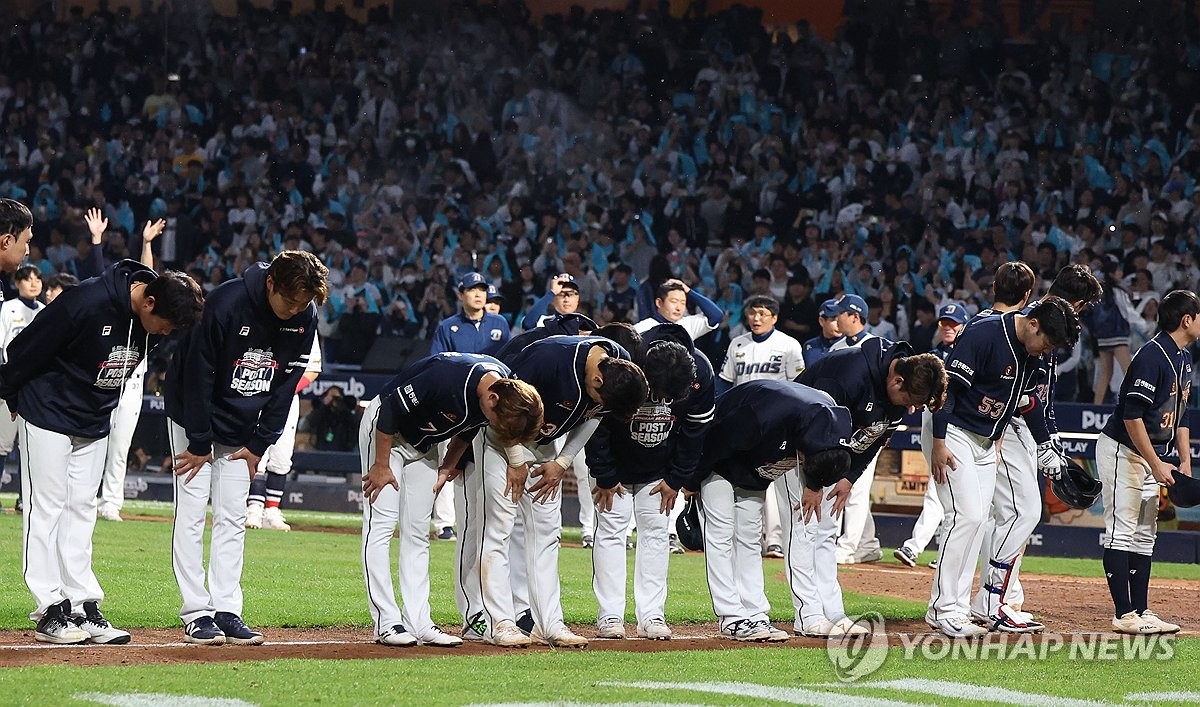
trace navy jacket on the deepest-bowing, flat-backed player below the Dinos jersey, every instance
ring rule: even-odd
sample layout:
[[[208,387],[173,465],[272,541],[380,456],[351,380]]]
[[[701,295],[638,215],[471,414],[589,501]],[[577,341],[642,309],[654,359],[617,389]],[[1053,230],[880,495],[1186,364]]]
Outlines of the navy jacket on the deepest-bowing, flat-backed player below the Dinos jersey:
[[[751,381],[734,385],[716,401],[716,414],[704,437],[700,468],[684,484],[716,473],[739,489],[764,491],[797,463],[797,453],[850,450],[850,411],[827,393],[791,381]],[[810,489],[838,479],[809,478]]]

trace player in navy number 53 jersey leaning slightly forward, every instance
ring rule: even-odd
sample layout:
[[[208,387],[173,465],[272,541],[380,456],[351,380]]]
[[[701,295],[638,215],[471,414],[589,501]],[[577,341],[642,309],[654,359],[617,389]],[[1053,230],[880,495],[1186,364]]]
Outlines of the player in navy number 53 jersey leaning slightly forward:
[[[1079,317],[1067,301],[1051,296],[1028,313],[991,314],[968,324],[954,346],[946,366],[946,406],[934,414],[930,463],[947,532],[925,613],[925,622],[947,636],[988,633],[970,622],[968,612],[984,521],[995,496],[995,443],[1021,396],[1037,385],[1038,357],[1078,340]],[[1013,627],[1025,623],[1007,605],[997,612]]]

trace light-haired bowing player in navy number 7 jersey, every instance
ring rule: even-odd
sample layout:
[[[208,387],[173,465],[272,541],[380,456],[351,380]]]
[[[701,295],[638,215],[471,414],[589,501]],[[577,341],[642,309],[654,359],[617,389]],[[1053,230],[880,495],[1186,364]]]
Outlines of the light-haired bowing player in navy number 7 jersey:
[[[430,617],[430,515],[438,484],[438,443],[454,468],[475,430],[491,425],[504,447],[541,427],[541,397],[481,354],[440,353],[389,381],[359,424],[362,466],[362,574],[376,641],[388,646],[460,646]],[[400,525],[400,594],[391,585],[391,534]]]

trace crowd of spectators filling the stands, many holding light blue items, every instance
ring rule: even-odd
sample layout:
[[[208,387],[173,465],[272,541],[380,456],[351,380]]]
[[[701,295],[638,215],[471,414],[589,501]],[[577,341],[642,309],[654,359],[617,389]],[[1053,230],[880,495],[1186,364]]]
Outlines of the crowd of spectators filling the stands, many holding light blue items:
[[[1200,287],[1200,41],[1182,10],[1153,35],[1014,40],[895,2],[829,41],[738,7],[430,5],[366,24],[248,6],[10,22],[0,196],[34,210],[31,260],[94,275],[89,206],[108,260],[167,218],[160,262],[205,288],[311,250],[342,364],[379,335],[428,338],[469,271],[516,328],[559,272],[601,324],[646,316],[637,293],[678,277],[726,312],[698,342],[716,365],[752,294],[802,341],[824,299],[858,294],[872,330],[926,350],[937,308],[986,306],[1009,259],[1044,281],[1070,262],[1103,274],[1135,340],[1162,294]],[[1060,390],[1090,401],[1079,353],[1082,383]]]

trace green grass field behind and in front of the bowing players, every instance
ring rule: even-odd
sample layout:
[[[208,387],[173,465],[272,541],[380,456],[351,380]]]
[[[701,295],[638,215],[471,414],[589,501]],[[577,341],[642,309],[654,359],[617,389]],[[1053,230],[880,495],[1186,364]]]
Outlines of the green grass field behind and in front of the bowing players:
[[[4,499],[4,505],[11,509],[11,498]],[[169,507],[133,502],[127,513],[163,516],[169,515]],[[290,521],[306,526],[358,525],[355,516],[288,515]],[[570,532],[568,537],[577,538]],[[179,594],[170,570],[169,541],[170,525],[166,522],[97,526],[96,573],[108,594],[106,610],[119,625],[179,627]],[[11,510],[0,515],[0,544],[10,549],[0,555],[0,628],[28,630],[31,624],[25,615],[30,598],[19,574],[20,519]],[[433,544],[433,616],[448,628],[457,625],[450,583],[451,555],[452,544]],[[781,568],[779,561],[773,564]],[[588,551],[564,547],[560,570],[566,619],[595,621]],[[1098,576],[1099,563],[1027,558],[1025,570]],[[1192,565],[1165,563],[1154,567],[1156,576],[1160,577],[1200,579],[1196,570]],[[703,571],[701,555],[671,558],[668,622],[713,621]],[[791,609],[786,586],[775,579],[778,574],[769,573],[767,589],[774,618],[786,625]],[[256,625],[360,627],[364,640],[370,636],[356,534],[251,532],[244,587],[245,615]],[[923,604],[887,597],[847,595],[847,609],[851,613],[875,611],[892,619],[924,615]],[[631,613],[626,618],[631,622]],[[886,653],[878,671],[850,687],[836,681],[822,648],[736,648],[733,643],[728,649],[708,652],[497,652],[485,657],[455,657],[450,652],[445,657],[409,660],[54,665],[0,671],[0,703],[1073,706],[1200,701],[1200,693],[1180,693],[1200,690],[1194,677],[1200,641],[1182,637],[1158,645],[1151,659],[1127,659],[1117,648],[1111,655],[1098,653],[1109,659],[1084,660],[1061,651],[1046,659],[1027,655],[1001,659],[992,654],[988,660],[971,660],[938,659],[941,655],[919,648],[910,649],[906,655],[906,649],[899,647]],[[53,689],[48,691],[47,685]],[[1127,699],[1129,695],[1133,697]],[[188,696],[186,701],[184,696]]]

